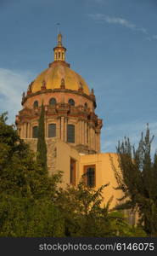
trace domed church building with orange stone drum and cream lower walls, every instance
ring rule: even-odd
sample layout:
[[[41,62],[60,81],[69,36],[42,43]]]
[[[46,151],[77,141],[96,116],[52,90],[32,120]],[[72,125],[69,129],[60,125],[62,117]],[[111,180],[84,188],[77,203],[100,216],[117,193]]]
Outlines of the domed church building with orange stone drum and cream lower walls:
[[[98,189],[109,183],[104,189],[104,202],[113,196],[110,207],[115,207],[121,191],[114,189],[117,183],[110,157],[117,168],[118,160],[114,153],[101,153],[103,121],[95,113],[94,91],[89,90],[86,81],[65,61],[66,49],[60,33],[53,52],[53,62],[23,93],[22,109],[15,121],[20,138],[36,152],[38,119],[43,103],[48,174],[62,171],[63,186],[66,183],[76,185],[83,174],[86,174],[89,187]]]

